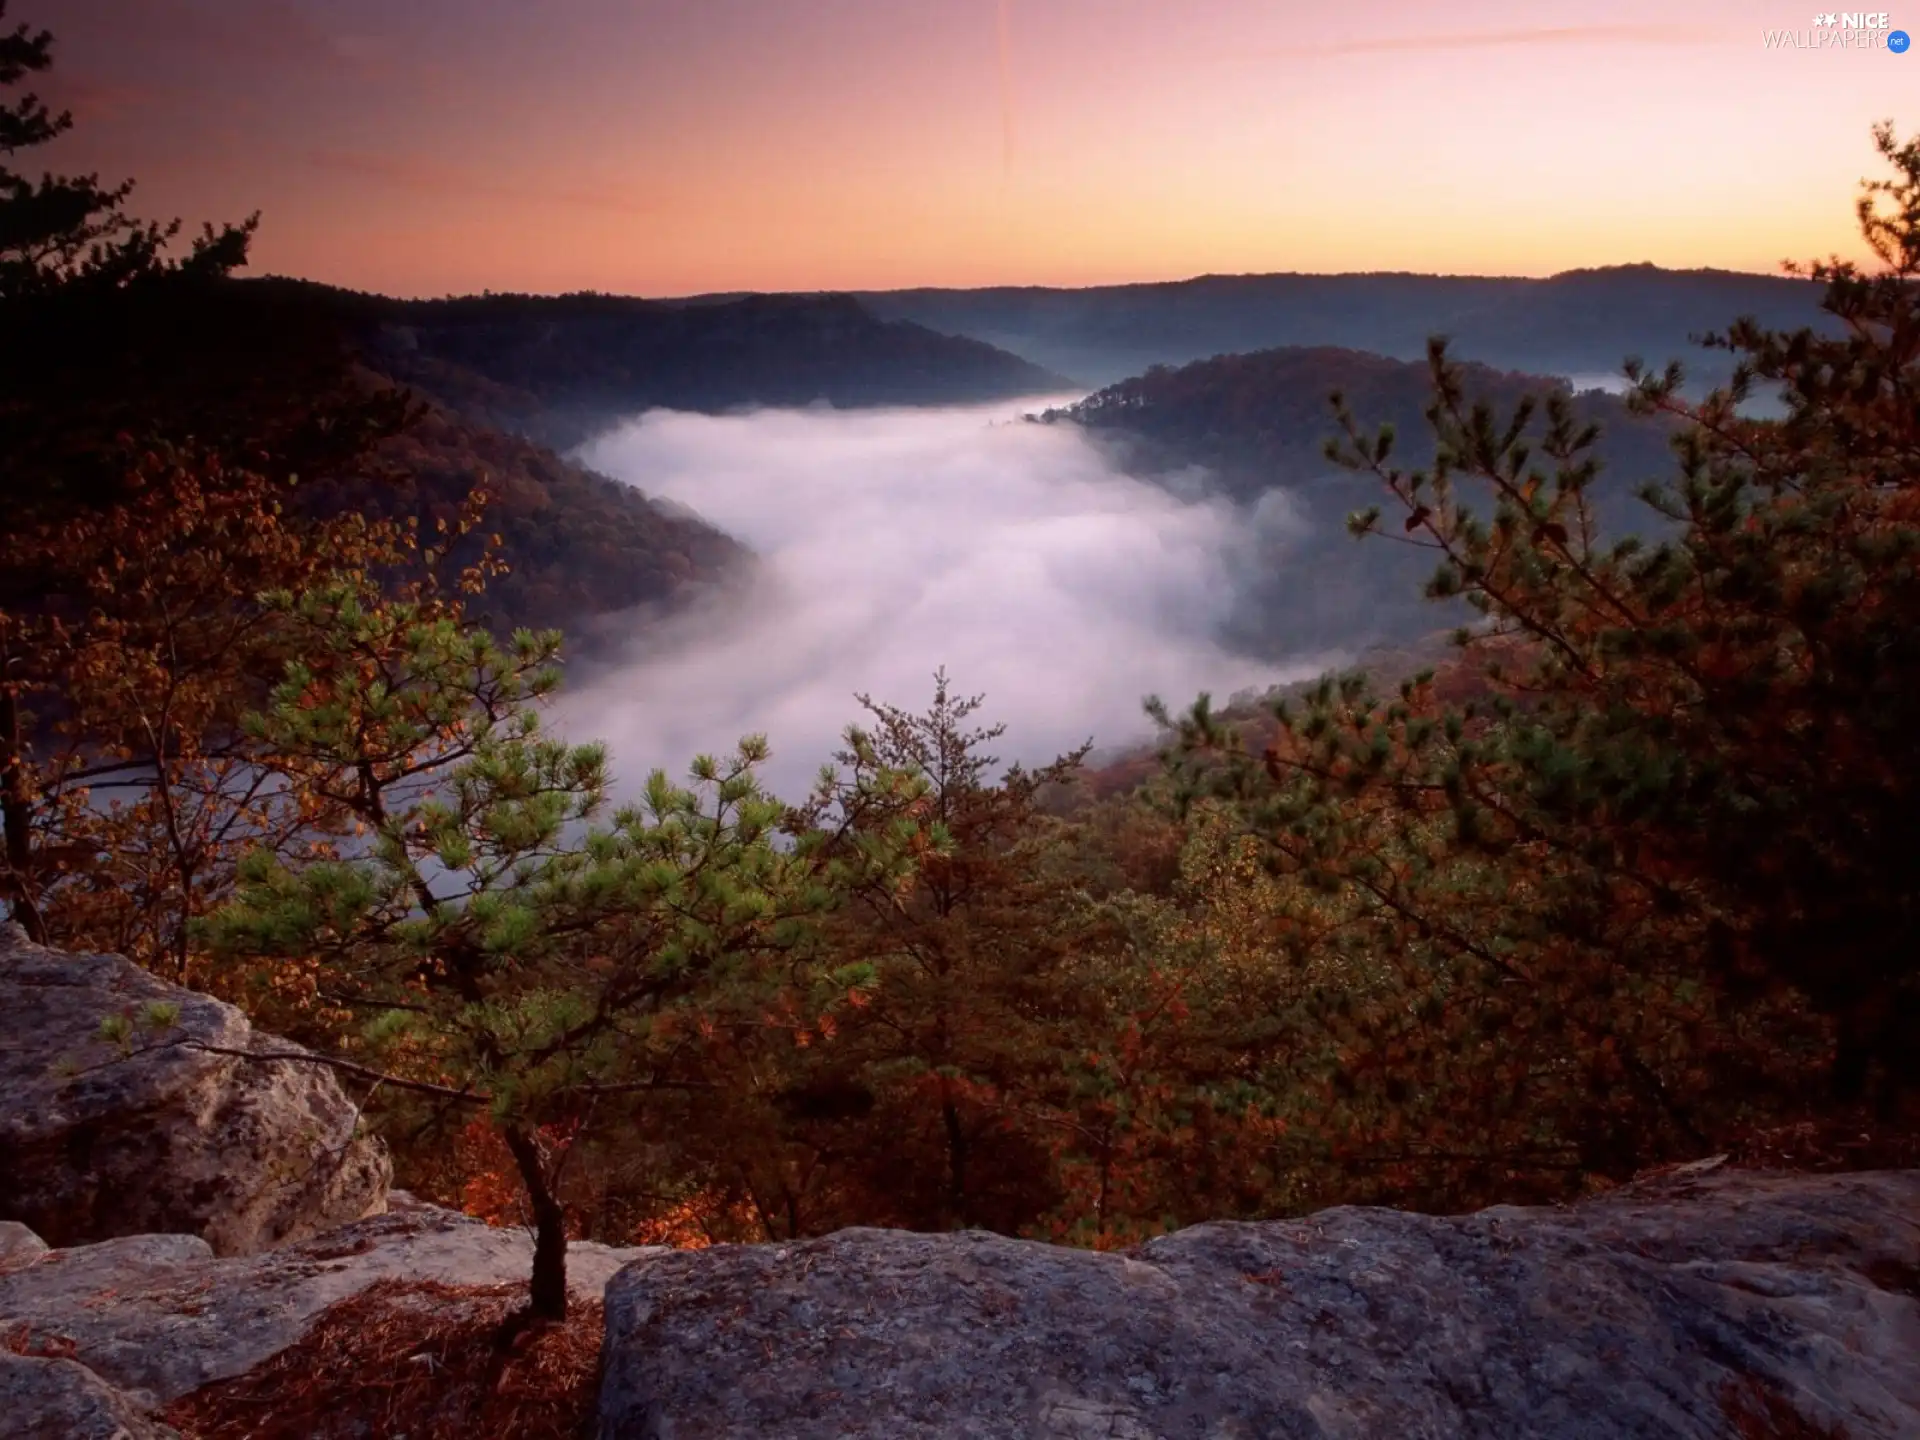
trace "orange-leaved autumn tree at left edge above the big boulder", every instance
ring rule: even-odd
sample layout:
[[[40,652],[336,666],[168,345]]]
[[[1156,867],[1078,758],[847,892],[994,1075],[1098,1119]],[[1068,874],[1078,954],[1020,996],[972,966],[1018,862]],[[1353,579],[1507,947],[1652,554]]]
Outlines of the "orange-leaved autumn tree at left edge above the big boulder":
[[[301,795],[265,783],[240,730],[292,643],[261,591],[417,559],[413,534],[388,524],[294,524],[282,493],[204,455],[154,453],[121,503],[0,536],[0,568],[60,576],[0,609],[25,730],[0,895],[29,931],[219,989],[192,918],[242,849],[303,843],[311,820]]]

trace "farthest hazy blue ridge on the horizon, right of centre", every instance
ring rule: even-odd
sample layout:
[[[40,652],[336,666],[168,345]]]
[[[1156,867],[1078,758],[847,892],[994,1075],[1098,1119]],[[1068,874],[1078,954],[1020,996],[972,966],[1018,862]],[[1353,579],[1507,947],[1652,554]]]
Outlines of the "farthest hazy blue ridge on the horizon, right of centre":
[[[1690,336],[1740,315],[1776,328],[1820,323],[1818,286],[1734,271],[1617,265],[1548,280],[1452,275],[1206,275],[1165,284],[889,290],[860,296],[887,319],[972,336],[1112,384],[1150,365],[1275,346],[1348,346],[1419,359],[1446,334],[1463,359],[1540,374],[1613,374],[1628,355],[1720,357]]]

